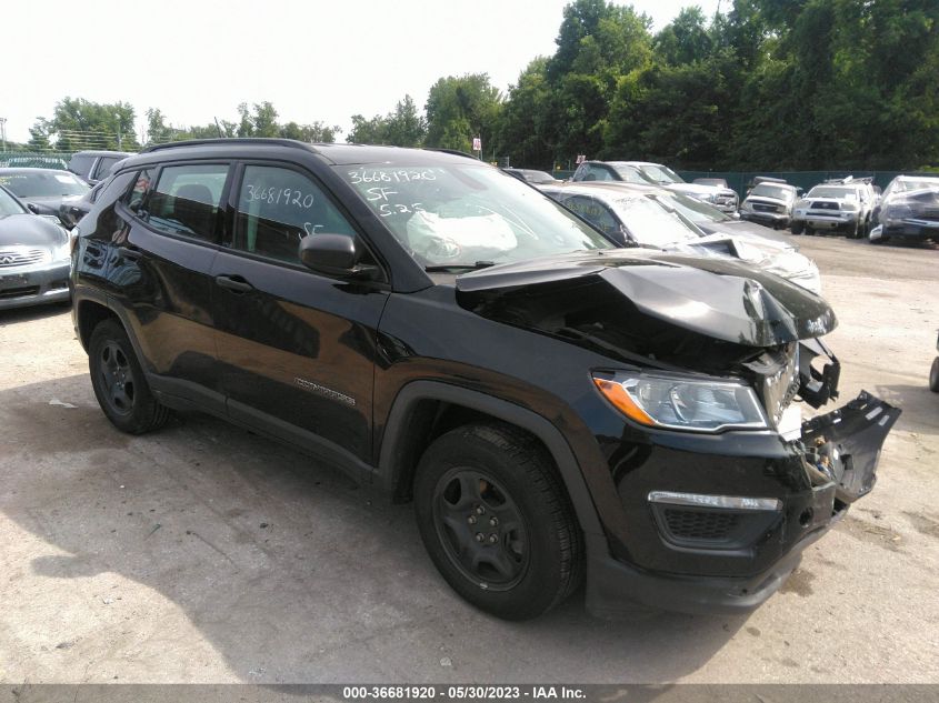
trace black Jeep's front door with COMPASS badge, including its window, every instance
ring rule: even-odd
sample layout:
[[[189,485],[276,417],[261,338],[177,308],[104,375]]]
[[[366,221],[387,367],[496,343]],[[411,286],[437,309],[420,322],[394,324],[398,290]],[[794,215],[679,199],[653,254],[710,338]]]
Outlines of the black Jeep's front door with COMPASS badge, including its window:
[[[229,219],[212,278],[230,416],[358,471],[371,452],[387,287],[319,275],[299,260],[301,238],[357,228],[311,173],[264,161],[239,165]]]

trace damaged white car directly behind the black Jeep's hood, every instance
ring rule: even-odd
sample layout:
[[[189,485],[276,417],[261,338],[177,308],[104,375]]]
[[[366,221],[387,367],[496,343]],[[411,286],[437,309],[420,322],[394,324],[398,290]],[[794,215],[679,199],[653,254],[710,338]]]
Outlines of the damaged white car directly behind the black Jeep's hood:
[[[649,247],[703,257],[730,257],[821,293],[815,262],[793,248],[758,237],[708,234],[678,209],[678,193],[626,183],[573,183],[540,189],[620,247]]]

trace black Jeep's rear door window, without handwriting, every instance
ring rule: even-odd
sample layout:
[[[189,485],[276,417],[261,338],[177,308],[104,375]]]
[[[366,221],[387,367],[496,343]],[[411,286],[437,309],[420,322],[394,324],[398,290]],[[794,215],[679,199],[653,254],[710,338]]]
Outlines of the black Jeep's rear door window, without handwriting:
[[[146,203],[146,213],[138,211],[157,230],[213,242],[227,178],[228,165],[221,163],[166,167]]]

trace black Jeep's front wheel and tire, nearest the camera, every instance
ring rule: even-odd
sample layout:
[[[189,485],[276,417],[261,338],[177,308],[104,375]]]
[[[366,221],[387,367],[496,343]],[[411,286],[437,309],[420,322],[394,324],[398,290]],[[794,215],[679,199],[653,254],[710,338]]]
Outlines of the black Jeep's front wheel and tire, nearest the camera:
[[[536,617],[580,584],[570,499],[545,448],[516,428],[464,425],[438,438],[418,464],[414,512],[443,579],[487,613]]]

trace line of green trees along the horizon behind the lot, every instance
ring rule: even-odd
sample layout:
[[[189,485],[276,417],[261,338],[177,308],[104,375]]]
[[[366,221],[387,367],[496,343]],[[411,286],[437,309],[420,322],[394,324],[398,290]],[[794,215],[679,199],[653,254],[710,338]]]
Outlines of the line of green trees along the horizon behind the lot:
[[[503,94],[486,73],[442,77],[421,112],[404,96],[354,114],[349,142],[470,151],[535,168],[577,157],[642,159],[690,170],[906,170],[939,162],[939,2],[732,0],[651,20],[608,0],[575,0],[550,57]],[[237,119],[173,128],[158,109],[144,141],[286,137],[331,142],[339,127],[278,122],[270,102]],[[94,134],[139,148],[133,108],[66,98],[28,147],[69,150]],[[87,148],[87,147],[86,147]]]

